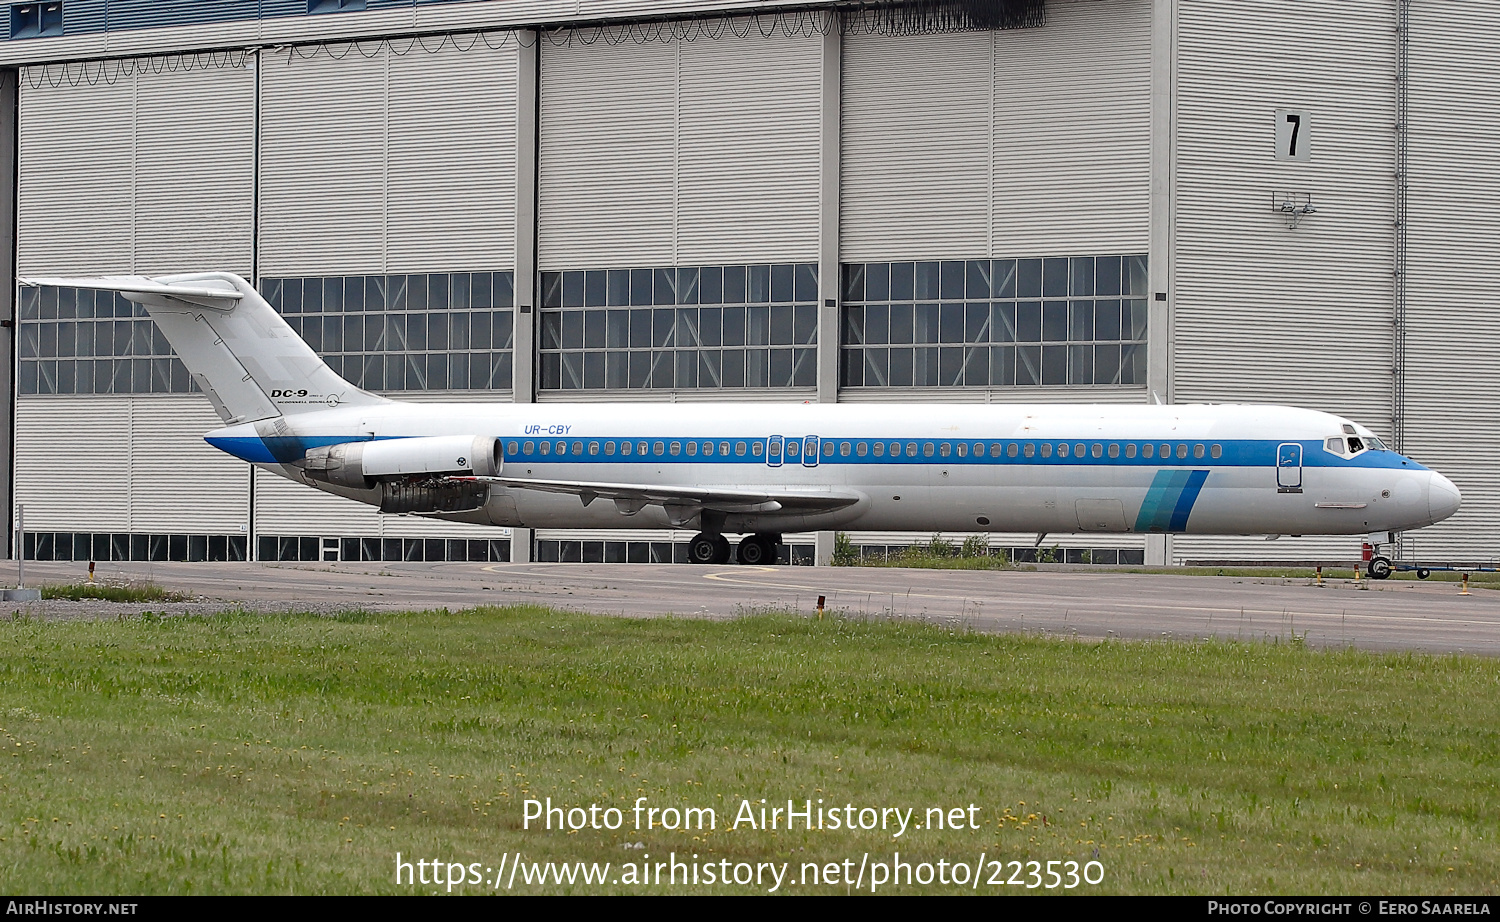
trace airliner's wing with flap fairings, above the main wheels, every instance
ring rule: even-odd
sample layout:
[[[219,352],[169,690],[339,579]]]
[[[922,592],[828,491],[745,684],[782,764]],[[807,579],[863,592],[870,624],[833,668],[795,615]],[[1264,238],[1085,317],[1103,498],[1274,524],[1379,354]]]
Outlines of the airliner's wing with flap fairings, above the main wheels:
[[[634,516],[648,505],[660,505],[672,522],[687,522],[699,510],[717,513],[760,514],[807,514],[828,513],[854,505],[862,498],[849,489],[828,487],[820,490],[776,490],[735,487],[680,487],[640,483],[582,483],[574,480],[530,480],[522,477],[472,477],[456,480],[483,480],[512,490],[538,490],[543,493],[572,493],[584,505],[596,499],[614,499],[615,508],[624,516]]]

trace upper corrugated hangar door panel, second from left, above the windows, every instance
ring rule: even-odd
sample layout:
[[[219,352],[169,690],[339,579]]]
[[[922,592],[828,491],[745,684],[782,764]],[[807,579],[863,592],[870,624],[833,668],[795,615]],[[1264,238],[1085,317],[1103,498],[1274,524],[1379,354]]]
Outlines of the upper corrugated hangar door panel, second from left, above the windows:
[[[262,274],[513,267],[514,39],[267,52],[261,100]]]

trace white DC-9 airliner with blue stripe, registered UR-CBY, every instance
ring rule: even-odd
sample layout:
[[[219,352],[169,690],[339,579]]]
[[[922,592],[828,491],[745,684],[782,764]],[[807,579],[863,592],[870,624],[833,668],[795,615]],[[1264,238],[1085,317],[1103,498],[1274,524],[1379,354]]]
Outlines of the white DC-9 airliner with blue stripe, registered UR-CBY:
[[[402,403],[340,376],[244,279],[24,279],[146,307],[225,427],[210,445],[384,513],[696,528],[690,558],[782,532],[1368,535],[1461,496],[1341,417],[1288,406]],[[1372,576],[1388,576],[1377,558]]]

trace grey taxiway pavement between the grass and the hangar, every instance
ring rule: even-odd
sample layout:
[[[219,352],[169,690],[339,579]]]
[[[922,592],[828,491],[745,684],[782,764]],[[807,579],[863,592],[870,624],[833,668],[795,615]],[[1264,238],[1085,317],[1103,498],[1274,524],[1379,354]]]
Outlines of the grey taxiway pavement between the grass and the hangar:
[[[27,564],[27,582],[80,582],[84,564]],[[1107,571],[968,571],[642,564],[99,564],[99,579],[153,580],[190,603],[44,601],[40,618],[536,603],[600,615],[734,618],[762,610],[915,618],[980,631],[1089,639],[1292,640],[1310,646],[1500,655],[1500,592],[1448,582],[1209,577]]]

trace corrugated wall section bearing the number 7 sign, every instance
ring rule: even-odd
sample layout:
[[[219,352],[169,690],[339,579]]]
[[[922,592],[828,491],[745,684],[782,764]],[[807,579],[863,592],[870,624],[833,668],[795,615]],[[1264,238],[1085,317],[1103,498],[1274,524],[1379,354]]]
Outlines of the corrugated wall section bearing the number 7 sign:
[[[1395,3],[1178,10],[1173,399],[1306,406],[1388,436]],[[1276,159],[1276,109],[1308,112],[1310,160]],[[1274,211],[1280,193],[1311,195],[1317,213],[1288,228]],[[1359,538],[1173,547],[1179,558],[1358,556]]]

